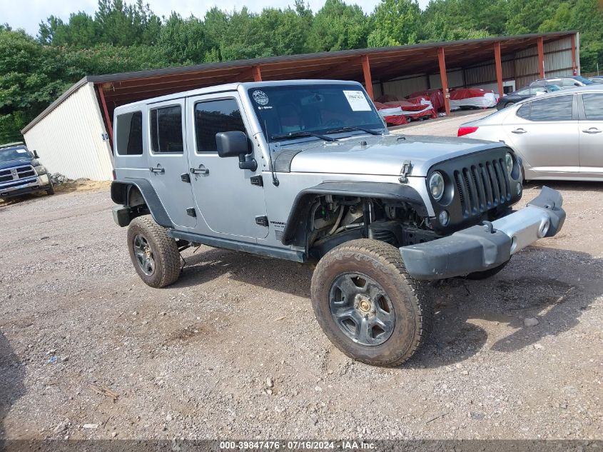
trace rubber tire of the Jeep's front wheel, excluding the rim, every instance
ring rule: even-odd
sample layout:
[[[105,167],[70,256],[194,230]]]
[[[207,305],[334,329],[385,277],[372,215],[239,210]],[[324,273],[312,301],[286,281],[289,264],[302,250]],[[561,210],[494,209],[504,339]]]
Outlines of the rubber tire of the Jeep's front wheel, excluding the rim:
[[[330,311],[330,290],[344,273],[373,278],[387,293],[395,313],[391,336],[380,345],[356,343],[338,326]],[[422,346],[431,331],[434,303],[427,284],[411,278],[400,251],[388,243],[363,238],[333,248],[320,259],[312,276],[312,305],[321,328],[333,344],[357,361],[399,366]]]

